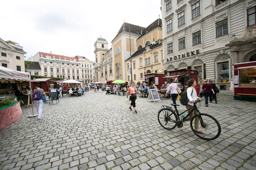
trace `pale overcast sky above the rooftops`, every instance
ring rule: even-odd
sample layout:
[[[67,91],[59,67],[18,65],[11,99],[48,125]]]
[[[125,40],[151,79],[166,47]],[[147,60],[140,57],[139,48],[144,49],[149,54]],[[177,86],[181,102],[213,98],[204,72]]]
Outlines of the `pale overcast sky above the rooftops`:
[[[26,57],[38,51],[94,58],[100,36],[108,48],[124,20],[147,27],[161,17],[160,0],[5,0],[0,38],[20,43]]]

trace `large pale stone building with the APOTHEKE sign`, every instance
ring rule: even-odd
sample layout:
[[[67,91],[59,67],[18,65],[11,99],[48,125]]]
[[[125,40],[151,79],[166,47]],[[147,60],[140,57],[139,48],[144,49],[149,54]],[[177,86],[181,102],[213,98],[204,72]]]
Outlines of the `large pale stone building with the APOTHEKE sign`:
[[[232,91],[232,65],[256,58],[256,1],[161,0],[161,10],[164,70],[195,69]]]

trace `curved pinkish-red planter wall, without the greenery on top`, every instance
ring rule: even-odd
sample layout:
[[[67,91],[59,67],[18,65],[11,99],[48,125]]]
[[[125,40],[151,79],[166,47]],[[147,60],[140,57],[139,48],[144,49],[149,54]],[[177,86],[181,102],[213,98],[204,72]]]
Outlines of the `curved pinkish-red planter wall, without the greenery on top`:
[[[22,114],[18,101],[1,107],[0,109],[2,109],[0,110],[0,130],[14,123]]]

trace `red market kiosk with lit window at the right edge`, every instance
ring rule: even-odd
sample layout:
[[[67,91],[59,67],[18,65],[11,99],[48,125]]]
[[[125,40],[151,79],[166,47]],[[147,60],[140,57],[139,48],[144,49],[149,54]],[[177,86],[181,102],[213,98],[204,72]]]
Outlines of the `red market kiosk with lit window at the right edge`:
[[[256,61],[234,64],[234,99],[256,101]]]

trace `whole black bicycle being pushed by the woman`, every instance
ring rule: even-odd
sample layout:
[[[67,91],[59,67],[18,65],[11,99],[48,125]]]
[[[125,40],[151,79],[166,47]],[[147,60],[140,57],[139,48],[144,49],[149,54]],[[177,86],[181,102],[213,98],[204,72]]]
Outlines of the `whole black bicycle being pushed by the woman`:
[[[199,103],[199,107],[196,106],[196,103]],[[165,128],[167,130],[172,130],[176,126],[178,128],[181,128],[181,127],[183,127],[183,123],[186,121],[188,116],[194,110],[196,110],[196,113],[198,113],[198,114],[194,115],[192,117],[192,119],[190,120],[190,127],[191,127],[192,131],[194,132],[194,134],[196,134],[196,136],[198,136],[201,139],[214,140],[220,136],[220,133],[221,133],[220,123],[213,116],[205,114],[205,113],[200,113],[200,111],[198,110],[198,108],[200,108],[200,104],[201,104],[200,101],[197,100],[197,101],[195,101],[193,106],[191,106],[189,109],[187,109],[186,111],[184,111],[180,114],[177,110],[177,106],[179,106],[179,105],[171,104],[172,106],[174,106],[175,111],[172,109],[172,107],[162,105],[162,109],[160,109],[158,111],[158,122],[160,123],[160,125],[163,128]],[[192,110],[188,113],[188,115],[186,115],[182,120],[180,120],[180,116],[190,109],[192,109]],[[203,132],[203,134],[200,134],[196,130],[194,130],[193,121],[194,121],[194,119],[196,119],[196,117],[198,117],[198,119],[199,119],[199,129],[198,130]]]

